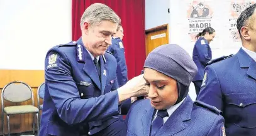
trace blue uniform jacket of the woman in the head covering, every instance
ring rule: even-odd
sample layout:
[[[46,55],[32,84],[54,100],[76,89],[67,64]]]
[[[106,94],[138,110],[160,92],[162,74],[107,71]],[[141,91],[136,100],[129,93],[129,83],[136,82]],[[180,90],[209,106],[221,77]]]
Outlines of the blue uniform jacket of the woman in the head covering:
[[[155,108],[149,99],[136,100],[126,116],[128,136],[149,136]],[[155,136],[223,136],[224,118],[220,110],[202,102],[184,102],[170,115]]]

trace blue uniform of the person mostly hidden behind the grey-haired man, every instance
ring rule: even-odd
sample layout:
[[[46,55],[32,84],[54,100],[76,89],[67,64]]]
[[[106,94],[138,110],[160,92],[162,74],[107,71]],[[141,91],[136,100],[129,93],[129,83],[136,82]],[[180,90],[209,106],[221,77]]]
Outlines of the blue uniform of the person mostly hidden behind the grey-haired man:
[[[116,70],[118,85],[123,86],[128,81],[123,41],[120,38],[113,38],[112,44],[109,46],[108,51],[114,55],[114,58],[116,58],[118,63]]]

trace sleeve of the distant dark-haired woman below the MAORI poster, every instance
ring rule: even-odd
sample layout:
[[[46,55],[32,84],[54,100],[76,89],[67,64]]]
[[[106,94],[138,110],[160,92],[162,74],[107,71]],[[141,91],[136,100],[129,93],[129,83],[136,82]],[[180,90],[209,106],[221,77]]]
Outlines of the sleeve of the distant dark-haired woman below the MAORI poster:
[[[199,61],[204,65],[206,66],[206,63],[208,63],[208,61],[211,60],[211,56],[208,55],[208,47],[209,47],[209,44],[206,43],[207,41],[205,41],[204,39],[201,39],[201,41],[199,41],[197,44],[196,44],[196,48],[198,49],[198,58],[199,58]]]

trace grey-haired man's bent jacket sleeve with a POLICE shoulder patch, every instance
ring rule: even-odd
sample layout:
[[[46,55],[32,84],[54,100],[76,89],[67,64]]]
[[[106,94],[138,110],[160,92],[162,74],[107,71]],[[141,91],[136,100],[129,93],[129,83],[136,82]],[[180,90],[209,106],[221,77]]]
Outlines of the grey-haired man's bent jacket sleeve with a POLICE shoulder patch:
[[[118,115],[118,92],[109,92],[97,98],[81,99],[70,73],[70,63],[65,53],[58,49],[47,53],[45,82],[58,116],[69,125],[91,122]],[[45,99],[46,100],[46,99]]]

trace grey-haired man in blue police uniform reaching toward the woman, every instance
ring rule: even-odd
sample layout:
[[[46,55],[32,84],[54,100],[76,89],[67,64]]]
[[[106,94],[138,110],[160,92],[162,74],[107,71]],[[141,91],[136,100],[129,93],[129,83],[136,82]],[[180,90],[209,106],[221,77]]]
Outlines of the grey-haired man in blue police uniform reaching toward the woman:
[[[138,76],[118,88],[116,59],[105,53],[118,24],[112,9],[92,4],[81,18],[81,38],[48,51],[41,136],[126,135],[121,102],[147,87]]]

